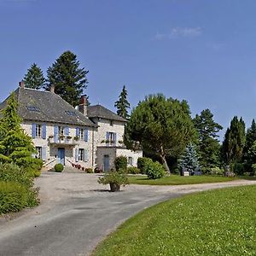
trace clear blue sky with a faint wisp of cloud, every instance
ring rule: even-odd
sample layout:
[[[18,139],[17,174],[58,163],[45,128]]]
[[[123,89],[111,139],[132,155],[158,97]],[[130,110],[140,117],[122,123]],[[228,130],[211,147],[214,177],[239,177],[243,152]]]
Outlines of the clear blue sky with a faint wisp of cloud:
[[[256,118],[254,0],[0,0],[0,102],[65,51],[89,70],[91,104],[163,93],[224,126]],[[224,135],[220,133],[220,139]]]

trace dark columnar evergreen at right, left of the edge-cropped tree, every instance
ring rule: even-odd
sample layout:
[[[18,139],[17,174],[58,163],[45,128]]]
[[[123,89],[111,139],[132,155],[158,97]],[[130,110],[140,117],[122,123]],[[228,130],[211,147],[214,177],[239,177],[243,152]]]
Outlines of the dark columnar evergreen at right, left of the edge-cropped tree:
[[[235,116],[225,132],[222,144],[222,157],[226,164],[241,162],[245,141],[245,123]]]

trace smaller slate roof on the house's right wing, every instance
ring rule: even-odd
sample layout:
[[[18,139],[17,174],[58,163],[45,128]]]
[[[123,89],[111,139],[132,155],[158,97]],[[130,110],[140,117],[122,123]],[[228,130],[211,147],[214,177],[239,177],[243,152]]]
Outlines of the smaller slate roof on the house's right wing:
[[[88,106],[87,115],[89,118],[102,118],[116,120],[120,122],[127,122],[126,119],[123,119],[118,114],[113,113],[108,108],[104,108],[102,105]]]

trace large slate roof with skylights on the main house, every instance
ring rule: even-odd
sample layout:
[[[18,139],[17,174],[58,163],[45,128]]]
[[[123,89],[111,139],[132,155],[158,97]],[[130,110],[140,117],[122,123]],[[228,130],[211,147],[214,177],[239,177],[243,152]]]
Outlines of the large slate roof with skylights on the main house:
[[[15,96],[19,102],[18,113],[24,120],[96,127],[79,110],[53,92],[18,88]],[[0,109],[5,107],[7,100],[0,104]]]

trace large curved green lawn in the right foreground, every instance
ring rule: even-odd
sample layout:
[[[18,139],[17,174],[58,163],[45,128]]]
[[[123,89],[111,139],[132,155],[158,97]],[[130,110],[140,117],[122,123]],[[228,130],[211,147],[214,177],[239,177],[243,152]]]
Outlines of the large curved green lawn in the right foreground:
[[[94,256],[255,255],[256,186],[186,195],[138,213]]]

